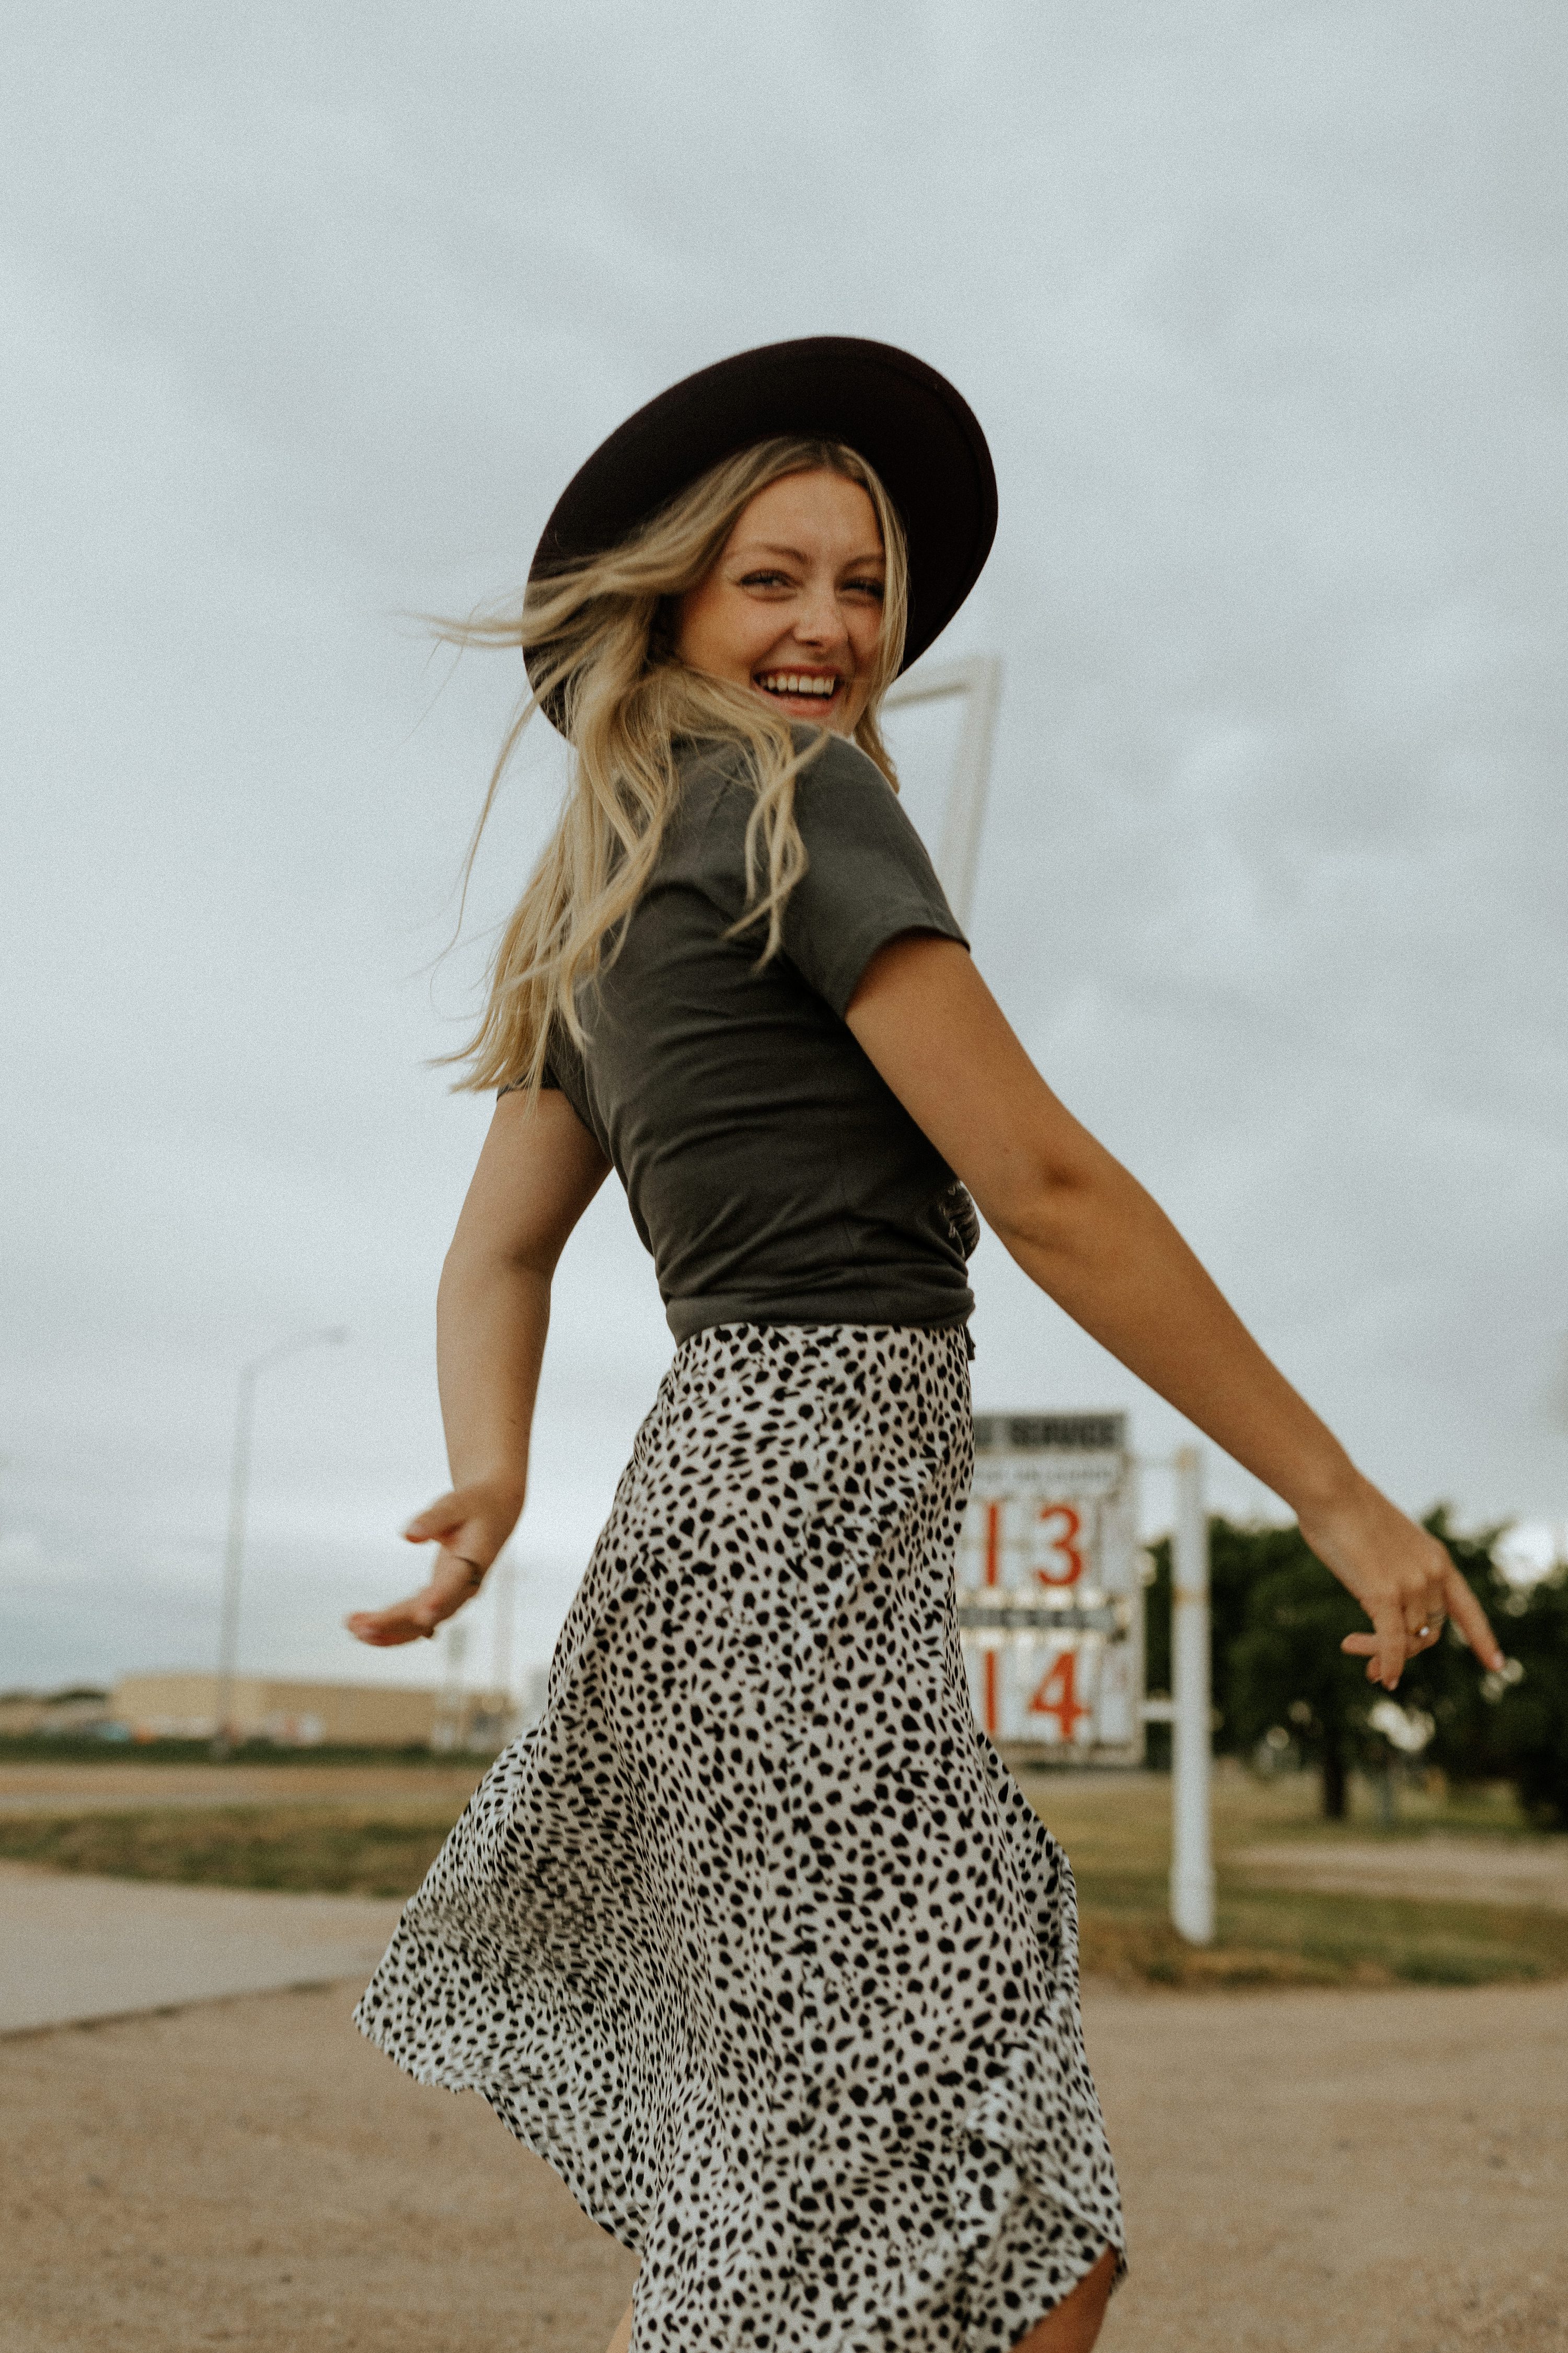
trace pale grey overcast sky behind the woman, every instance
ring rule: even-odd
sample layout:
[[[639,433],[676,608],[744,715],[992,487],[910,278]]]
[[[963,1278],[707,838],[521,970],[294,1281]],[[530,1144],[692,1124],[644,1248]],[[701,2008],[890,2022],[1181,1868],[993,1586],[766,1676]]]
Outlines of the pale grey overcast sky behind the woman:
[[[1006,666],[973,941],[1041,1071],[1399,1501],[1568,1520],[1566,71],[1561,0],[14,12],[0,1685],[209,1661],[235,1372],[336,1322],[263,1377],[244,1664],[435,1671],[339,1619],[444,1485],[489,1113],[428,1056],[562,769],[433,972],[520,671],[400,614],[788,334],[990,433],[938,652]],[[976,1289],[978,1402],[1180,1440],[990,1240]],[[607,1188],[524,1659],[668,1355]]]

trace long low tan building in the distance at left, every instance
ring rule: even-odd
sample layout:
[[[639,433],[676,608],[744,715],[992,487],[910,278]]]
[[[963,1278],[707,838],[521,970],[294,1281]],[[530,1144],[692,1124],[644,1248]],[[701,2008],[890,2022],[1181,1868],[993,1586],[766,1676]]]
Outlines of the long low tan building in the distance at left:
[[[172,1671],[122,1675],[108,1713],[134,1741],[209,1741],[219,1678]],[[282,1748],[501,1748],[520,1722],[505,1692],[437,1692],[395,1682],[287,1682],[235,1675],[228,1699],[235,1739]],[[522,1715],[527,1720],[527,1711]]]

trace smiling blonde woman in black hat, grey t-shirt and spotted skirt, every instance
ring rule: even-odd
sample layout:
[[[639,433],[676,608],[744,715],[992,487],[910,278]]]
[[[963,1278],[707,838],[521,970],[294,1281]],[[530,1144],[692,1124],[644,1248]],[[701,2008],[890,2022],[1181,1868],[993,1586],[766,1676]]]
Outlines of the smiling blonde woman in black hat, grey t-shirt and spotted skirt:
[[[1121,2268],[1072,1878],[954,1633],[971,1195],[1291,1504],[1368,1675],[1446,1614],[1495,1657],[1446,1551],[1044,1087],[898,807],[882,694],[992,529],[952,386],[773,346],[611,435],[522,614],[458,631],[522,645],[576,762],[468,1049],[501,1099],[440,1287],[454,1487],[409,1527],[440,1553],[360,1640],[430,1635],[512,1532],[550,1275],[611,1167],[679,1346],[543,1720],[360,2024],[642,2252],[639,2353],[1070,2353]]]

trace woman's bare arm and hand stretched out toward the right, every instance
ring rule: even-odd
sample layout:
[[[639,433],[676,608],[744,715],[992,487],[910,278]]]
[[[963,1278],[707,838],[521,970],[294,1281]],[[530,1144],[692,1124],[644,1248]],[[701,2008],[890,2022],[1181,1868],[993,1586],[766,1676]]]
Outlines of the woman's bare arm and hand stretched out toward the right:
[[[1345,1645],[1371,1675],[1392,1689],[1443,1614],[1488,1666],[1500,1664],[1443,1546],[1361,1478],[1164,1209],[1058,1104],[964,948],[891,941],[860,979],[849,1028],[1018,1266],[1284,1497],[1373,1621],[1371,1635]]]

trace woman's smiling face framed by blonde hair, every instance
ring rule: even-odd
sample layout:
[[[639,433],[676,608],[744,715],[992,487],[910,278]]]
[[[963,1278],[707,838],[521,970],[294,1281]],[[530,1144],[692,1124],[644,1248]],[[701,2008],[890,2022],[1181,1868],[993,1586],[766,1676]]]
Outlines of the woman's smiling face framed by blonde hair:
[[[884,581],[860,485],[788,473],[741,511],[708,579],[679,600],[675,652],[788,720],[851,734],[872,687]]]

